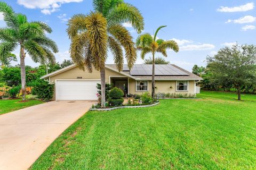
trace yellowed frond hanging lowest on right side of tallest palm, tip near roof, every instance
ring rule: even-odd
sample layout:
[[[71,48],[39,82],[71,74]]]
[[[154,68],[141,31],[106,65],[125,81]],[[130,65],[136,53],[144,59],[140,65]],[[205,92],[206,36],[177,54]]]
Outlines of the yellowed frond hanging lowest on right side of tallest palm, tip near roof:
[[[136,62],[137,53],[130,32],[126,30],[122,25],[113,25],[108,29],[108,31],[124,47],[125,58],[129,68],[131,69]]]

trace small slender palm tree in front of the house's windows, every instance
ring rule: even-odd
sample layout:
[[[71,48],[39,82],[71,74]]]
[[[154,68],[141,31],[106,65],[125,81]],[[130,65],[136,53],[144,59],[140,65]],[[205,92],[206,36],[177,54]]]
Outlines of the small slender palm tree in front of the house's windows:
[[[153,65],[152,65],[152,97],[155,96],[155,53],[162,53],[163,56],[167,57],[166,49],[172,49],[174,52],[179,52],[178,44],[173,40],[157,39],[158,31],[166,27],[166,25],[157,28],[154,37],[150,33],[144,33],[140,35],[136,40],[137,49],[141,50],[141,58],[144,60],[145,55],[148,53],[152,54]]]

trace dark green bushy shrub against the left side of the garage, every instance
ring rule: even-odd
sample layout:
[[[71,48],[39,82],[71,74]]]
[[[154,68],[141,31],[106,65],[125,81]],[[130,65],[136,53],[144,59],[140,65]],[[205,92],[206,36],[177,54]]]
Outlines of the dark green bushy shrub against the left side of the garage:
[[[35,82],[32,89],[32,94],[43,101],[49,101],[53,96],[54,84],[49,84],[47,81],[38,80]]]

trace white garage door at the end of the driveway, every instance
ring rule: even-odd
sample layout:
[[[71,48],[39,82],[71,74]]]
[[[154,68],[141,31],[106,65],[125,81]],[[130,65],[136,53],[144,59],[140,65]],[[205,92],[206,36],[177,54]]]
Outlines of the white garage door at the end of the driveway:
[[[58,80],[56,82],[57,100],[97,100],[95,80]]]

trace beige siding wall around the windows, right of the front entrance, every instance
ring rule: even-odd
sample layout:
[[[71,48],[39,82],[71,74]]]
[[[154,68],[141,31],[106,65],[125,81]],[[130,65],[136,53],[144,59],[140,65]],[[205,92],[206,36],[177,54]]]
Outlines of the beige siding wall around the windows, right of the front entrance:
[[[162,81],[155,81],[155,93],[170,93],[170,94],[195,94],[195,81],[190,80],[188,84],[188,91],[176,91],[176,81],[173,80],[162,80]],[[172,87],[172,89],[170,88]],[[129,94],[138,94],[141,95],[145,91],[136,91],[136,81],[133,79],[129,79]],[[148,92],[151,94],[151,81],[148,81]]]

